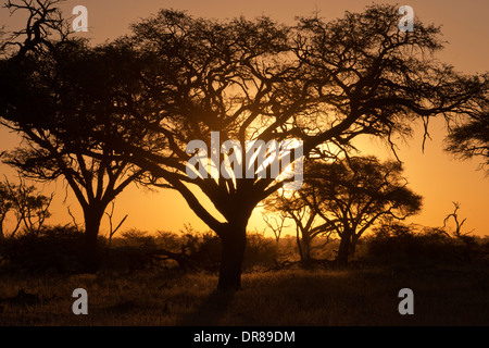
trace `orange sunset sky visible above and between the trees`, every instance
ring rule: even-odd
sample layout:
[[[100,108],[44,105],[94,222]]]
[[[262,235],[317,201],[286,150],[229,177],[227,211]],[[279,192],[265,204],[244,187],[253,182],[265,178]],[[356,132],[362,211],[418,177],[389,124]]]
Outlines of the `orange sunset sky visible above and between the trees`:
[[[398,3],[397,1],[383,1]],[[88,9],[89,32],[83,33],[93,42],[103,42],[127,33],[128,25],[138,18],[147,17],[162,8],[187,10],[190,14],[214,18],[226,18],[244,15],[271,15],[273,18],[291,23],[296,15],[308,15],[318,10],[319,15],[334,18],[342,15],[346,10],[361,11],[372,1],[353,0],[77,0],[63,3],[66,17],[72,14],[75,5]],[[443,39],[449,41],[439,58],[456,70],[465,73],[485,72],[488,70],[489,57],[489,26],[487,0],[410,0],[402,3],[414,9],[415,15],[425,23],[442,25]],[[8,28],[18,28],[25,20],[21,13],[9,17],[5,9],[0,9],[0,24]],[[21,21],[21,22],[20,22]],[[442,225],[444,216],[452,212],[452,201],[461,203],[460,215],[466,217],[465,231],[475,228],[474,234],[489,235],[489,177],[477,171],[478,162],[453,159],[442,151],[444,127],[442,122],[432,122],[430,134],[432,141],[428,141],[425,153],[422,152],[422,128],[416,127],[416,134],[406,145],[400,146],[399,156],[405,163],[405,175],[410,186],[417,194],[424,196],[423,212],[411,221],[427,226]],[[14,135],[0,129],[0,151],[12,149],[17,142]],[[367,139],[360,141],[364,153],[387,153],[381,146],[372,144]],[[9,167],[0,165],[2,174],[10,174]],[[2,175],[3,176],[3,175]],[[53,202],[51,223],[67,223],[71,221],[66,207],[62,204],[64,190],[62,183],[47,185],[45,192],[57,189]],[[74,212],[79,213],[77,202],[68,194],[68,204]],[[137,227],[139,229],[178,231],[185,223],[191,223],[200,229],[206,226],[187,208],[178,192],[164,190],[148,192],[129,187],[116,199],[114,221],[128,214],[123,229]],[[82,223],[82,217],[78,217]],[[255,212],[250,221],[249,231],[262,232],[264,225],[260,212]],[[106,231],[106,219],[102,224],[102,234]],[[293,233],[293,232],[292,232]]]

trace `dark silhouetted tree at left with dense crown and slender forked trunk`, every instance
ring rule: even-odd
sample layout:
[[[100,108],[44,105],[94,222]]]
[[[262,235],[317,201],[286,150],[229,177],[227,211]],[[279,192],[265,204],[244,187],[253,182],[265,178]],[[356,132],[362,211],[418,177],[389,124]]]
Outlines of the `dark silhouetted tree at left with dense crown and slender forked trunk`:
[[[30,15],[15,38],[25,41],[13,41],[10,47],[18,50],[0,61],[0,117],[24,141],[4,163],[37,181],[66,181],[83,209],[84,261],[87,271],[93,271],[105,208],[142,174],[115,157],[104,139],[116,126],[111,115],[125,112],[130,80],[137,79],[128,72],[130,55],[121,45],[89,48],[84,40],[68,39],[64,22],[58,22],[58,15],[51,18],[58,14],[55,1],[23,3],[16,9],[27,9]],[[49,30],[60,35],[50,38],[45,35]],[[42,39],[37,39],[38,32]],[[97,139],[90,136],[95,130]],[[126,136],[137,139],[130,129]]]

